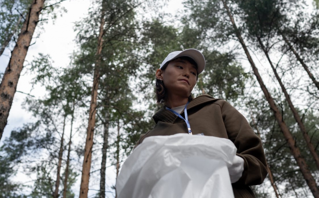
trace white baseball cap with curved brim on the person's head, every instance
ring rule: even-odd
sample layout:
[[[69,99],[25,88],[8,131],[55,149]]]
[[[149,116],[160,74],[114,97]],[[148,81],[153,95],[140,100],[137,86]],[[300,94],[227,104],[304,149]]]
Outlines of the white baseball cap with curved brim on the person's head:
[[[197,49],[186,49],[184,51],[171,52],[167,55],[162,64],[160,64],[159,68],[162,68],[167,62],[181,56],[188,56],[192,58],[197,63],[197,74],[202,73],[205,68],[206,62],[204,55]]]

